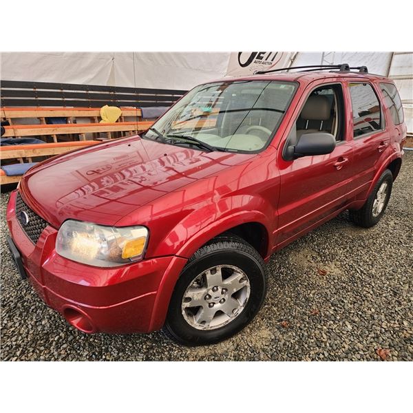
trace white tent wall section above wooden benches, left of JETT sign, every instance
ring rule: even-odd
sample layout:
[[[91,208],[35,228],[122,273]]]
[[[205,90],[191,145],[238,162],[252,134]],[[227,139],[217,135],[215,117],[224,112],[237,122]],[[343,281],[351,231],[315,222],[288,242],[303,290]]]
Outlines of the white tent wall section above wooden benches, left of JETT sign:
[[[1,79],[188,90],[222,78],[230,53],[2,53]]]

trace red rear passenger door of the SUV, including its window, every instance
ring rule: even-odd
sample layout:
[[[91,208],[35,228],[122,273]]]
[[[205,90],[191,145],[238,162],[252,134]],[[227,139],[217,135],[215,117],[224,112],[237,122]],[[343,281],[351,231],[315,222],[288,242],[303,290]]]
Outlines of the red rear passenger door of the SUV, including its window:
[[[354,189],[357,198],[366,198],[381,162],[390,151],[390,134],[385,127],[383,107],[373,83],[346,83],[352,110]]]

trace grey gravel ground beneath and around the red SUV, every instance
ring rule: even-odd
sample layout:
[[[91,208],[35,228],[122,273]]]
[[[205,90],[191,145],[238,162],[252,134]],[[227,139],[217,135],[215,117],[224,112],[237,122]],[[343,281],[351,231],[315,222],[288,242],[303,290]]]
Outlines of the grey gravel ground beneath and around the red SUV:
[[[413,360],[413,153],[381,222],[343,213],[273,255],[264,308],[239,335],[184,348],[160,332],[85,335],[19,280],[1,195],[2,360]],[[381,355],[381,357],[379,357]]]

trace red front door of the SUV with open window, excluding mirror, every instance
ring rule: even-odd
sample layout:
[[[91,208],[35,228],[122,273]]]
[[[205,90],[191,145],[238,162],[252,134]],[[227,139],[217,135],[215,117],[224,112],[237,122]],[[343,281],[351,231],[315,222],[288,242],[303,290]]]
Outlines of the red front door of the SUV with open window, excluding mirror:
[[[348,202],[352,189],[352,142],[346,125],[341,83],[324,84],[309,90],[308,98],[288,138],[279,147],[281,190],[276,242],[288,244],[310,226],[334,214]],[[285,160],[282,151],[290,140],[306,133],[330,133],[335,150],[328,155]]]

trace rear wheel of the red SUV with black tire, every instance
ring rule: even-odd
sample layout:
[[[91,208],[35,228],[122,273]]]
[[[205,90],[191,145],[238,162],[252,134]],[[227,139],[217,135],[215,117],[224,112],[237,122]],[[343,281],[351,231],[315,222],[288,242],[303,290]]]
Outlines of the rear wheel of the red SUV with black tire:
[[[377,194],[381,190],[382,187],[385,187],[385,199],[383,200],[383,206],[380,210],[375,210],[375,200],[377,199]],[[393,186],[393,175],[392,173],[386,169],[382,174],[377,183],[374,185],[372,193],[370,193],[369,197],[366,200],[366,203],[361,207],[361,209],[357,211],[350,211],[350,220],[354,222],[357,226],[362,226],[363,228],[370,228],[374,226],[381,220],[381,217],[384,214],[385,209],[388,206],[388,202],[390,200],[390,195],[392,193],[392,186]],[[374,213],[375,212],[375,213]]]

